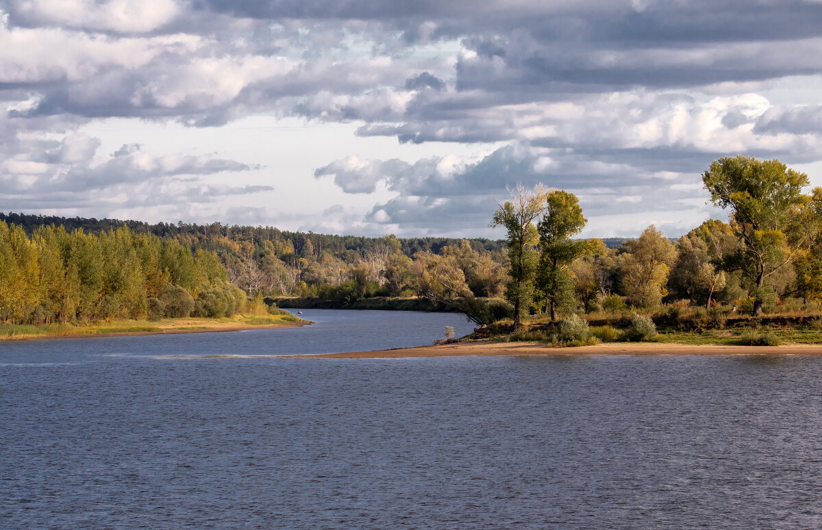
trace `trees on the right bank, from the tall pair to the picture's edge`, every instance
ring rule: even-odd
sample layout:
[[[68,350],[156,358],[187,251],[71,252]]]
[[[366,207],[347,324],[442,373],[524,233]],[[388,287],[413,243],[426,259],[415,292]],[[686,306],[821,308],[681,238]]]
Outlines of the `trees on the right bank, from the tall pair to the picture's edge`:
[[[587,220],[576,196],[519,187],[496,211],[506,228],[506,298],[514,326],[528,313],[653,309],[663,303],[760,315],[789,297],[822,301],[822,188],[778,160],[714,162],[703,175],[728,223],[712,219],[678,242],[657,228],[617,249],[575,239]]]

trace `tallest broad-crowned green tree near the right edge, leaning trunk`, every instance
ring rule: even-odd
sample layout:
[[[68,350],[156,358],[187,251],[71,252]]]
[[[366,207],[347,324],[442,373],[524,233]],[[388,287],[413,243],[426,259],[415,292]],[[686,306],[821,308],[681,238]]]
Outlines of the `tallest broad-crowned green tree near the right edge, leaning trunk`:
[[[808,176],[777,159],[737,155],[714,161],[702,181],[713,204],[731,210],[731,226],[743,243],[736,266],[750,280],[752,313],[760,315],[774,294],[769,279],[814,239],[806,224],[810,197],[801,193]]]

